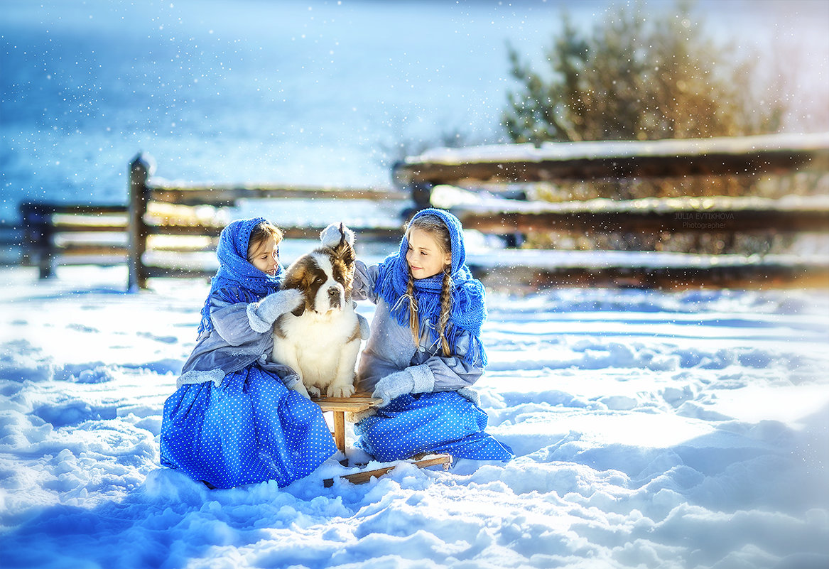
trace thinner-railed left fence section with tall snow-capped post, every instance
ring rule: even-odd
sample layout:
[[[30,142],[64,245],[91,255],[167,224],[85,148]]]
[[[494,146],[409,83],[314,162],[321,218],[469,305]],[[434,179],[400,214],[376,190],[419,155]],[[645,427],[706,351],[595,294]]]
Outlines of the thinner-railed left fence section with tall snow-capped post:
[[[138,155],[128,166],[128,205],[75,206],[23,203],[20,207],[22,264],[37,266],[41,278],[61,262],[128,265],[128,289],[147,288],[153,277],[197,277],[215,273],[216,239],[226,224],[219,215],[242,200],[369,200],[400,202],[393,189],[303,186],[198,186],[150,182],[148,160]],[[282,220],[279,220],[282,221]],[[279,224],[291,239],[318,239],[327,225]],[[351,223],[361,242],[400,238],[401,222],[385,226]],[[205,255],[209,259],[204,261]],[[159,263],[166,255],[168,262]]]

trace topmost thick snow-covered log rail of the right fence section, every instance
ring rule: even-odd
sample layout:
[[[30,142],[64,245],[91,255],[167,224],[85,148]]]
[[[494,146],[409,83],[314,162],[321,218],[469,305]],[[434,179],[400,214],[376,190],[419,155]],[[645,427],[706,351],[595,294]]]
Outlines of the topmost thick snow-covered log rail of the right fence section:
[[[829,133],[718,139],[589,141],[440,148],[406,158],[394,171],[417,183],[551,182],[829,170]]]

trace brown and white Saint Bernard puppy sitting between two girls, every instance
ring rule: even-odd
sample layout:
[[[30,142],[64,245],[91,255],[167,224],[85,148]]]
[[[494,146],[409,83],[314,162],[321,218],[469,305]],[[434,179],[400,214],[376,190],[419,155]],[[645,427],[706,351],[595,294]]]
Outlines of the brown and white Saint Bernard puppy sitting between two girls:
[[[347,230],[346,230],[347,231]],[[360,353],[360,323],[351,302],[354,280],[353,233],[303,255],[285,270],[283,289],[298,289],[304,302],[274,322],[274,362],[291,367],[304,396],[354,394],[354,369]]]

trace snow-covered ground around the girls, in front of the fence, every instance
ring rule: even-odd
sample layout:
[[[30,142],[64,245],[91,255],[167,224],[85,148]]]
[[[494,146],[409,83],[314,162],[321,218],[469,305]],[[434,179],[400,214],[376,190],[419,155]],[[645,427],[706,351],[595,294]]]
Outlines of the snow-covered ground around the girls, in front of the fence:
[[[829,566],[825,292],[492,293],[516,460],[216,491],[158,463],[206,284],[57,275],[0,269],[2,567]]]

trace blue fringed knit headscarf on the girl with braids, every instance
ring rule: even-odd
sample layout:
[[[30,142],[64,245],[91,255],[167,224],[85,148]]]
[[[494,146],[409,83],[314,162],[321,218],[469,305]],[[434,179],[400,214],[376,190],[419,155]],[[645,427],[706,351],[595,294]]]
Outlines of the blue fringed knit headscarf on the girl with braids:
[[[449,348],[454,349],[455,341],[463,330],[472,335],[469,350],[464,360],[470,364],[476,361],[487,364],[487,354],[481,343],[481,326],[487,319],[486,297],[481,281],[473,278],[466,265],[466,250],[463,246],[463,226],[457,217],[443,210],[429,208],[418,212],[412,221],[420,216],[438,216],[449,230],[452,243],[452,311],[449,323],[444,331]],[[409,302],[405,298],[406,288],[409,285],[409,263],[406,262],[406,252],[409,250],[409,240],[403,236],[400,241],[400,250],[387,256],[379,265],[379,274],[374,291],[381,296],[391,307],[391,316],[401,326],[409,326]],[[414,299],[417,302],[418,320],[421,329],[425,319],[429,319],[429,327],[433,342],[439,340],[439,333],[434,329],[440,316],[440,291],[443,288],[443,273],[438,273],[428,279],[414,280]]]

